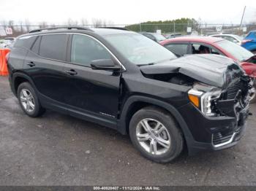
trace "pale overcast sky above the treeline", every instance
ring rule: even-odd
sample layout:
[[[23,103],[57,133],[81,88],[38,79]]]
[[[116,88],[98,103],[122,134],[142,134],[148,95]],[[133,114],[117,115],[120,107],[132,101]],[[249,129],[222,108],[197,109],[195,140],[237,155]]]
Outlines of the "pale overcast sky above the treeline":
[[[246,5],[245,22],[256,20],[255,0],[0,0],[1,20],[47,21],[63,24],[68,18],[111,20],[114,24],[194,17],[207,23],[240,23]]]

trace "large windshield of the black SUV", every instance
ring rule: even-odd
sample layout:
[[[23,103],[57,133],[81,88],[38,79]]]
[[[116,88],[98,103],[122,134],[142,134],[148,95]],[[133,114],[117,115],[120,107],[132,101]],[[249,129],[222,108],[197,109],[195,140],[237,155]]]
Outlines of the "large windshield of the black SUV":
[[[141,34],[111,34],[106,35],[105,39],[136,65],[159,63],[176,58],[176,55],[165,47]]]

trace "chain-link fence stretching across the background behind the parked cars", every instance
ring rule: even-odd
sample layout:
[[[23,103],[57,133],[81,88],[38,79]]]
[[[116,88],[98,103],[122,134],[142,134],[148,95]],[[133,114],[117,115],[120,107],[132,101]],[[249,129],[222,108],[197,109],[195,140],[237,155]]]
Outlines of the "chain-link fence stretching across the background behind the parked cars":
[[[192,34],[207,36],[209,34],[217,33],[233,33],[238,35],[245,35],[249,31],[256,30],[255,24],[247,24],[240,26],[238,24],[190,24],[190,23],[159,23],[159,24],[146,24],[138,23],[134,25],[77,25],[78,27],[124,27],[131,31],[136,32],[161,32],[162,34]],[[63,25],[29,25],[29,26],[0,26],[0,38],[16,37],[21,34],[26,34],[31,30],[39,28],[54,28],[54,27],[67,27]]]

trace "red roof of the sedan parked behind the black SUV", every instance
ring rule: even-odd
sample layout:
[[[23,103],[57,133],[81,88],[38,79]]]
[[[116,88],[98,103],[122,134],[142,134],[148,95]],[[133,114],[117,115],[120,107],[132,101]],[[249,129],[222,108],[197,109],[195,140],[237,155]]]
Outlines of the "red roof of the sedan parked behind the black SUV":
[[[167,42],[187,42],[187,41],[214,43],[222,40],[223,39],[221,38],[210,37],[210,36],[181,36],[181,37],[176,37],[174,39],[164,40],[161,42],[161,44],[166,44]]]

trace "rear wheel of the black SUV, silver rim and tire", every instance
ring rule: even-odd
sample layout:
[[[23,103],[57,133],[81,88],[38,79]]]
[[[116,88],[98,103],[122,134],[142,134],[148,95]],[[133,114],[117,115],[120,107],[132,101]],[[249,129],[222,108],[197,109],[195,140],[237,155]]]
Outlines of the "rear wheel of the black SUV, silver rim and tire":
[[[45,112],[45,109],[42,108],[39,103],[34,88],[29,82],[23,82],[18,86],[17,97],[21,109],[23,109],[23,112],[29,115],[29,117],[39,117]]]

